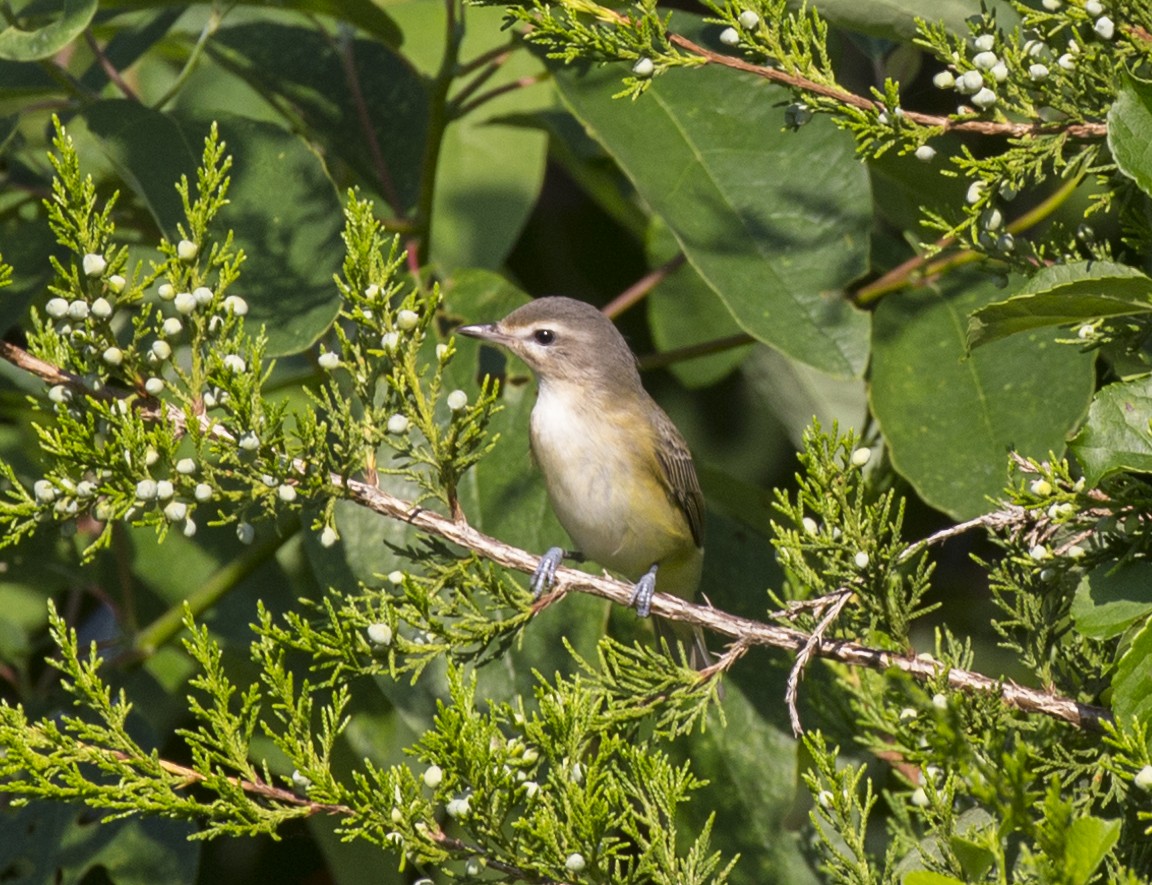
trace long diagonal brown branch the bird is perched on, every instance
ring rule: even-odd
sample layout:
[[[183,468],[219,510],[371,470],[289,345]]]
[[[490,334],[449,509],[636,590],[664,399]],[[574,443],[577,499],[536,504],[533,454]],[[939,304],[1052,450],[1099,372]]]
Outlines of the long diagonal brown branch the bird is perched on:
[[[54,365],[45,363],[43,360],[37,360],[10,342],[0,341],[0,357],[52,384],[68,384],[74,389],[86,395],[109,395],[104,392],[101,394],[92,394],[84,387],[81,379],[61,372]],[[164,419],[173,424],[177,432],[187,428],[185,415],[176,406],[152,401],[138,408],[141,408],[142,414],[146,417],[160,419],[162,416]],[[206,415],[200,415],[198,421],[200,422],[203,432],[210,433],[218,439],[234,440],[234,436],[226,428],[215,423]],[[308,469],[306,462],[301,459],[295,460],[293,467],[301,471]],[[362,507],[366,507],[382,516],[406,522],[438,538],[457,544],[505,568],[523,572],[524,574],[535,574],[540,562],[539,557],[477,531],[467,522],[454,521],[434,510],[414,506],[411,501],[406,501],[367,483],[340,477],[334,474],[329,476],[329,482],[334,486],[343,489],[348,498]],[[987,521],[991,516],[982,519]],[[975,524],[975,521],[964,523],[964,530],[972,528]],[[917,542],[912,547],[917,547],[917,545],[924,546],[930,542],[935,543],[946,535],[950,536],[950,534],[953,534],[950,530],[937,532],[931,538]],[[911,555],[905,550],[904,554],[901,554],[902,558],[905,554]],[[632,591],[634,587],[631,584],[614,577],[590,575],[573,568],[561,567],[556,569],[552,596],[559,599],[569,592],[583,592],[599,596],[617,605],[628,606],[631,603]],[[881,673],[888,670],[899,670],[920,681],[943,676],[948,687],[956,691],[994,695],[1006,706],[1014,710],[1048,716],[1079,728],[1099,728],[1104,723],[1112,720],[1112,713],[1105,708],[1082,704],[1074,698],[1033,688],[1024,688],[1014,682],[1005,682],[1000,679],[986,676],[983,673],[949,668],[929,655],[896,655],[861,643],[847,640],[829,640],[823,636],[816,636],[813,642],[813,635],[802,630],[764,623],[750,618],[741,618],[714,608],[711,605],[689,603],[668,593],[655,593],[652,599],[652,614],[673,621],[683,621],[699,626],[712,633],[727,636],[749,648],[765,645],[793,652],[806,650],[806,653],[812,656],[854,667],[867,667]]]

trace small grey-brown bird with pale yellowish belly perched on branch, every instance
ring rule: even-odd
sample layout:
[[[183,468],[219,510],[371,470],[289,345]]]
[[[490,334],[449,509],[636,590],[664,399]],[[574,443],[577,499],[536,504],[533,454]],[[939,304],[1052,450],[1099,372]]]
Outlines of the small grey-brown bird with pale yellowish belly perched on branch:
[[[636,582],[647,617],[652,593],[691,599],[704,559],[704,498],[675,425],[641,385],[623,335],[591,304],[537,298],[499,323],[461,326],[523,360],[539,389],[532,454],[552,508],[582,555]],[[539,596],[564,558],[553,547],[532,578]],[[710,663],[700,629],[668,625],[692,666]],[[675,650],[674,650],[675,651]]]

